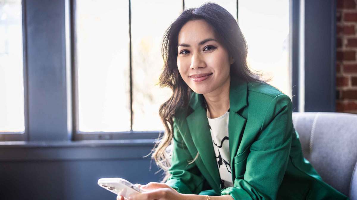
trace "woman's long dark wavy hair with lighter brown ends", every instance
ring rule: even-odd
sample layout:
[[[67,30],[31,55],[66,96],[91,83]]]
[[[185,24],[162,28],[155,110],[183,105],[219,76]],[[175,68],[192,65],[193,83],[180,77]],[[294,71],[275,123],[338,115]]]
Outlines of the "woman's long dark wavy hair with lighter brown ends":
[[[165,182],[170,174],[167,172],[171,166],[171,151],[167,147],[173,138],[173,117],[179,108],[187,108],[192,90],[183,81],[177,68],[178,33],[182,26],[190,20],[205,20],[212,26],[218,41],[226,48],[230,57],[235,62],[231,64],[231,78],[248,82],[265,82],[261,75],[250,71],[247,66],[247,43],[236,19],[215,3],[206,3],[197,8],[190,8],[182,12],[180,16],[167,28],[162,41],[162,57],[164,69],[159,78],[160,87],[172,89],[172,96],[159,108],[159,115],[165,127],[162,137],[159,137],[152,154],[155,163],[165,170]],[[161,139],[160,139],[161,138]],[[198,157],[196,155],[195,159]],[[193,161],[195,160],[193,159]],[[193,161],[190,161],[192,163]]]

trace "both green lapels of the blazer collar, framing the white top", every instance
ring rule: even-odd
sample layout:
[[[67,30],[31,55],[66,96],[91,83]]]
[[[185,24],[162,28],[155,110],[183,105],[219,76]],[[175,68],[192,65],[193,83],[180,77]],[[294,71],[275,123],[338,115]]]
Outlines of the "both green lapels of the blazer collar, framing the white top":
[[[215,152],[211,138],[206,110],[204,108],[203,95],[192,92],[189,106],[191,113],[188,113],[186,122],[189,133],[192,136],[193,143],[200,154],[200,161],[197,166],[212,188],[221,193],[220,175],[218,171]],[[245,125],[245,119],[237,114],[242,108],[247,106],[247,83],[238,80],[232,80],[230,83],[230,114],[229,114],[229,149],[231,155],[232,180],[234,180],[233,158],[236,155],[241,131]],[[195,155],[193,155],[194,157]]]

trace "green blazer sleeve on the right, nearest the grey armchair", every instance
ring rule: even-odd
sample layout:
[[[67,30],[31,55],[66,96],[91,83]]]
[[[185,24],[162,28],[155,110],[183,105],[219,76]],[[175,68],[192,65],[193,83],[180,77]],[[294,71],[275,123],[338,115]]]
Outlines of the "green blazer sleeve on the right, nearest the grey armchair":
[[[221,191],[235,200],[276,199],[291,149],[292,103],[286,94],[273,98],[263,118],[260,133],[250,146],[244,178]],[[233,165],[234,166],[234,165]]]

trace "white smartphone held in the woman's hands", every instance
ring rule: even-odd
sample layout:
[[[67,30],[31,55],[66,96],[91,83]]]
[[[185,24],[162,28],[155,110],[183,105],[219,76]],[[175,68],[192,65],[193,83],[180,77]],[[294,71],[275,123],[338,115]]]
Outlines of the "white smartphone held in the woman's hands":
[[[122,178],[102,178],[98,180],[98,185],[116,195],[123,196],[124,199],[128,199],[131,194],[144,192],[144,190],[141,190],[134,186],[134,184]]]

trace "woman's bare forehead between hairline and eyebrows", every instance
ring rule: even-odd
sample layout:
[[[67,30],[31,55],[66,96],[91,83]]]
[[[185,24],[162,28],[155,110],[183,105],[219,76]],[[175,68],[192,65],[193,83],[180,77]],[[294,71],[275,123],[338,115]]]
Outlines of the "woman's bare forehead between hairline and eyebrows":
[[[212,26],[205,20],[188,21],[178,33],[178,43],[197,44],[207,38],[217,39]]]

